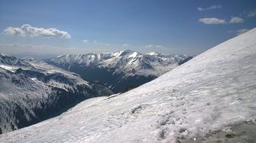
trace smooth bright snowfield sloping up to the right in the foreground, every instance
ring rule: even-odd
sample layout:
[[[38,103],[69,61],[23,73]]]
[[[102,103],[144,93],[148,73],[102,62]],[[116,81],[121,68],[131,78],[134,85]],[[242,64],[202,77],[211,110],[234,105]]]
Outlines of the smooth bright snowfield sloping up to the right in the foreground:
[[[232,126],[255,125],[255,39],[252,29],[134,90],[86,100],[0,141],[253,142],[256,128],[234,132],[239,127]],[[216,132],[223,138],[211,138]]]

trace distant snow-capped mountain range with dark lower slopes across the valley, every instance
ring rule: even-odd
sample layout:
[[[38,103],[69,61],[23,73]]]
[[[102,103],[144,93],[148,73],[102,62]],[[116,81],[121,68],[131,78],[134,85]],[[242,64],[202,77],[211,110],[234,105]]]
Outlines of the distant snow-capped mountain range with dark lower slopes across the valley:
[[[145,84],[183,62],[186,55],[138,53],[123,50],[115,53],[64,55],[45,62],[76,72],[83,79],[110,87],[115,93]]]

